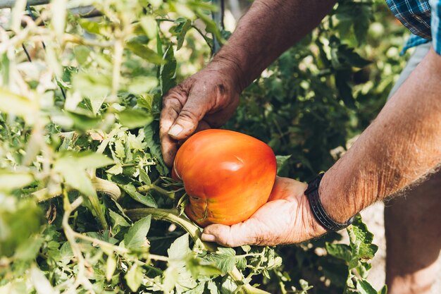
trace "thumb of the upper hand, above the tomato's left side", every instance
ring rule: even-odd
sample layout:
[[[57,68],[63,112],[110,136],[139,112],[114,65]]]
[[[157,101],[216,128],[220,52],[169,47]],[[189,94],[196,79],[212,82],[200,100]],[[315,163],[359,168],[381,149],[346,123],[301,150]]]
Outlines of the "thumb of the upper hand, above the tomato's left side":
[[[205,114],[206,106],[203,103],[187,102],[168,131],[168,135],[175,140],[186,139],[194,133],[199,121],[201,121]]]

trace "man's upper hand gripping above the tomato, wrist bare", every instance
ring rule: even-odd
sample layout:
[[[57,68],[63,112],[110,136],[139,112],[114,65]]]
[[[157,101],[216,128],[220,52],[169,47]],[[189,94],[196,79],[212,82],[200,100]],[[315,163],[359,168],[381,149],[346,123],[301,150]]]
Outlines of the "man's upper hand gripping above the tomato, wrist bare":
[[[178,142],[195,131],[217,128],[239,104],[233,66],[212,62],[163,97],[159,135],[164,161],[173,165]]]

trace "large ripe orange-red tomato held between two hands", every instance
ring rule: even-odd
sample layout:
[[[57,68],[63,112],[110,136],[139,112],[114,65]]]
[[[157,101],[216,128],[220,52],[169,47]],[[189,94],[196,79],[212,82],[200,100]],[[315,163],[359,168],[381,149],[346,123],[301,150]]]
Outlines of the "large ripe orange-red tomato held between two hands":
[[[203,130],[182,144],[172,174],[189,195],[185,214],[205,227],[249,219],[267,202],[276,170],[264,142],[231,130]]]

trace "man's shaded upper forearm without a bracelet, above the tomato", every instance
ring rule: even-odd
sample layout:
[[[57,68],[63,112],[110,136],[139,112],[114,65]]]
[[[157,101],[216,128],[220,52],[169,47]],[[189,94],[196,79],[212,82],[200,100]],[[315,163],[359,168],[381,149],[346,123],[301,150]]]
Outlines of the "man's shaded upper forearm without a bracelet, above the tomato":
[[[238,92],[329,13],[334,0],[256,0],[213,61],[236,75]]]

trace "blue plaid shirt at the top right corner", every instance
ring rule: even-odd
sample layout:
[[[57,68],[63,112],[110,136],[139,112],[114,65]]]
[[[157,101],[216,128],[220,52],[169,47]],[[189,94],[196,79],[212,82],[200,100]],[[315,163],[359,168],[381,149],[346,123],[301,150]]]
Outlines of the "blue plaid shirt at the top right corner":
[[[441,0],[386,0],[386,3],[412,34],[431,39],[433,48],[441,55]],[[423,44],[421,38],[411,37],[404,49]]]

